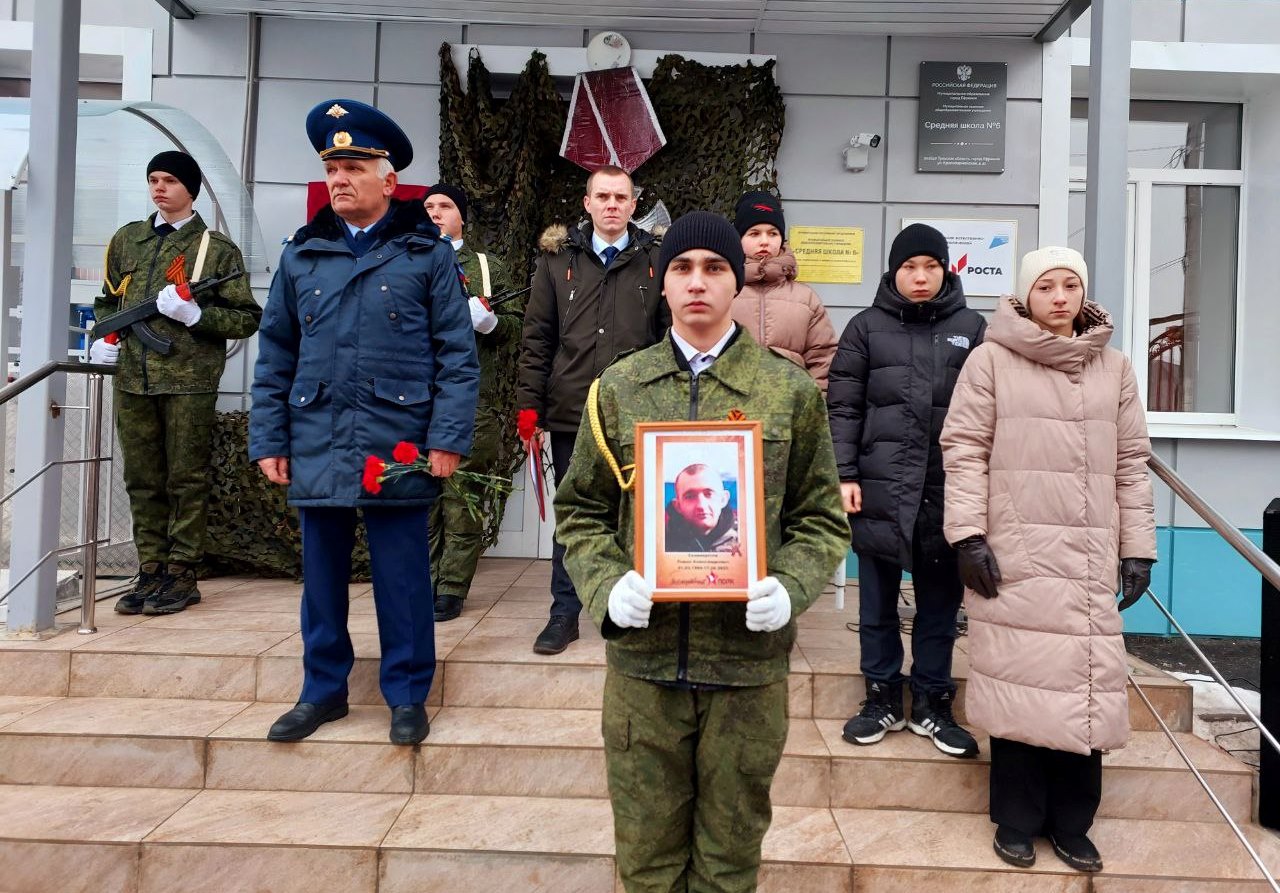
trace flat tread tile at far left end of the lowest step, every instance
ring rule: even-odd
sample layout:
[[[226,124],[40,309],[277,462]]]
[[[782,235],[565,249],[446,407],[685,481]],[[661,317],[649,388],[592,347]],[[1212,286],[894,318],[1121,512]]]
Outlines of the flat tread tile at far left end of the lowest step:
[[[196,794],[165,788],[0,786],[0,838],[138,842]]]

